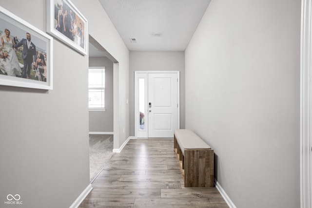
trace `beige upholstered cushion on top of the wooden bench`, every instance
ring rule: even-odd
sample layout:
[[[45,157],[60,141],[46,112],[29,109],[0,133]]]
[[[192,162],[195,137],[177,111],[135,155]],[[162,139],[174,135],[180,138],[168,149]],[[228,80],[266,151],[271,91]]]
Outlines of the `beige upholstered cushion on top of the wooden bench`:
[[[184,150],[211,149],[206,142],[189,129],[175,130],[175,137],[183,154]]]

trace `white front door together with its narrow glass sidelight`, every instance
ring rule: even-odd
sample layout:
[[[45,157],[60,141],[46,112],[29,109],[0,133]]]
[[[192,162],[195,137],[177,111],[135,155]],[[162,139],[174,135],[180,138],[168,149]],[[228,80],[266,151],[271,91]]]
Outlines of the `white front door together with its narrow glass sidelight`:
[[[179,128],[179,72],[135,72],[135,136],[173,138]]]

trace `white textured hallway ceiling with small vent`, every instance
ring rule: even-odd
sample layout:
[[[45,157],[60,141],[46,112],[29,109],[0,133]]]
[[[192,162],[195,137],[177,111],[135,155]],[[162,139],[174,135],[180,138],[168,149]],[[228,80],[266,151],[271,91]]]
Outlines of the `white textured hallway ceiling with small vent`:
[[[210,0],[99,1],[130,51],[184,51],[210,3]],[[155,33],[160,36],[154,36]]]

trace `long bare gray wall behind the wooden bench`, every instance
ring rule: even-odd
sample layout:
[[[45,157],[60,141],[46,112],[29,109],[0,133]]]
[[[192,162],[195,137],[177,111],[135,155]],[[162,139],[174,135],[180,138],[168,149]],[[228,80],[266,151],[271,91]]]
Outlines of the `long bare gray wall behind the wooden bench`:
[[[212,0],[185,51],[185,127],[237,208],[299,208],[298,0]]]

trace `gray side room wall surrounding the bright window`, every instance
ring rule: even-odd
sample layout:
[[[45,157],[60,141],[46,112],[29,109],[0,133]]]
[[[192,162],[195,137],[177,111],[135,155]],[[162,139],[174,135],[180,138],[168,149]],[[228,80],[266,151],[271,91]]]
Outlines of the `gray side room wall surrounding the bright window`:
[[[105,111],[89,111],[89,132],[114,131],[113,62],[107,57],[89,57],[89,67],[105,67]]]

